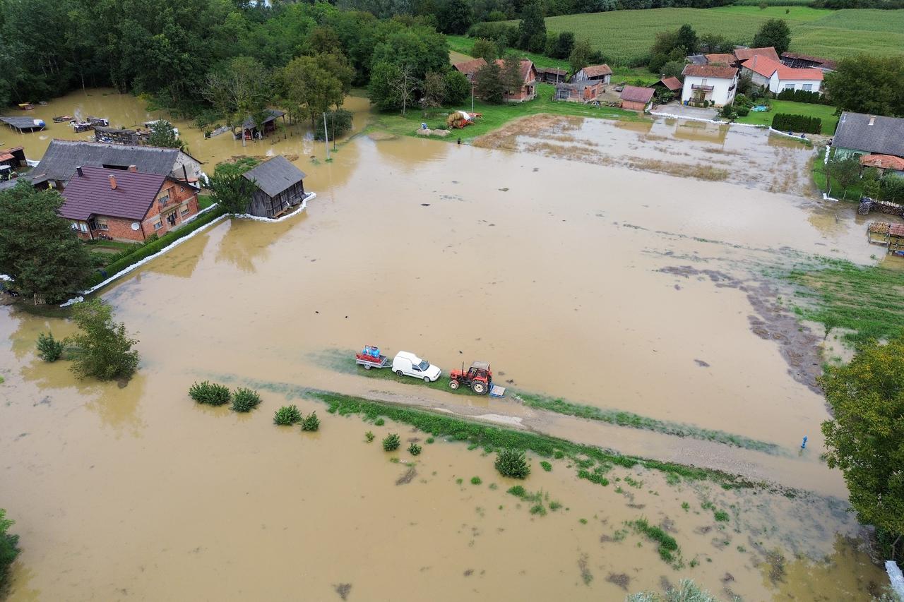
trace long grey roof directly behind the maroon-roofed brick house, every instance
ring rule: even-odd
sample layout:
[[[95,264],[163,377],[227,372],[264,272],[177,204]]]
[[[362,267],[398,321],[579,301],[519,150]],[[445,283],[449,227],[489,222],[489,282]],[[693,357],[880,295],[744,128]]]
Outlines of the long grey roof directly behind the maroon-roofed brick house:
[[[36,181],[68,181],[78,166],[135,165],[144,174],[167,175],[173,171],[180,151],[160,146],[117,145],[82,140],[52,140],[33,170]],[[42,176],[46,176],[43,177]]]

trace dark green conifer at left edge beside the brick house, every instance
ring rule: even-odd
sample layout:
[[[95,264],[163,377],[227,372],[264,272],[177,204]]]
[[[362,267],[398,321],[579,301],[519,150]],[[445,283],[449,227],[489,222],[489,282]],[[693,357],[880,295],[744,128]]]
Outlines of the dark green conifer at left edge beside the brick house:
[[[78,293],[91,273],[88,251],[60,217],[62,203],[60,193],[25,182],[0,193],[0,274],[51,303]]]

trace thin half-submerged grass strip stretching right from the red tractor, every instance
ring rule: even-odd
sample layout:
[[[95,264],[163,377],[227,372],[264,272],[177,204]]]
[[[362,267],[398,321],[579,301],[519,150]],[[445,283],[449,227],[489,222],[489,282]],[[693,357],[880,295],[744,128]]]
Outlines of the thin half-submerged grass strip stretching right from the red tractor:
[[[525,406],[531,408],[546,409],[548,411],[556,412],[557,414],[567,414],[583,419],[600,420],[602,422],[614,424],[618,427],[641,428],[644,430],[653,430],[657,433],[664,433],[666,435],[675,435],[677,437],[714,441],[729,446],[764,452],[773,456],[784,454],[784,450],[774,443],[758,441],[757,439],[751,439],[750,437],[743,437],[741,435],[733,435],[721,430],[712,430],[710,428],[694,427],[689,424],[652,419],[646,416],[640,416],[633,412],[626,412],[618,409],[597,408],[596,406],[573,403],[569,400],[535,395],[532,393],[519,392],[517,394],[517,399],[522,400]]]

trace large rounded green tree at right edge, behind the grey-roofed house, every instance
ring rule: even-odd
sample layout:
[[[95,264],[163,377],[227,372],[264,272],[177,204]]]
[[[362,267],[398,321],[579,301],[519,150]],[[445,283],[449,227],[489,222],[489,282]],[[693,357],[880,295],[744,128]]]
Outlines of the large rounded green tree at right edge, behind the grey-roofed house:
[[[904,117],[904,61],[871,54],[843,59],[825,75],[825,91],[846,111]]]

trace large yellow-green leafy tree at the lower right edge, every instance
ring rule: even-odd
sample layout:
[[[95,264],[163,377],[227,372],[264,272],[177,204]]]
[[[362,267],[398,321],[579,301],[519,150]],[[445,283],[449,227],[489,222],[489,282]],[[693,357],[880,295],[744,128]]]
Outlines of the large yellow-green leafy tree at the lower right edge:
[[[840,468],[861,522],[891,534],[904,550],[904,339],[862,345],[852,361],[819,382],[833,410],[823,423],[825,459]]]

